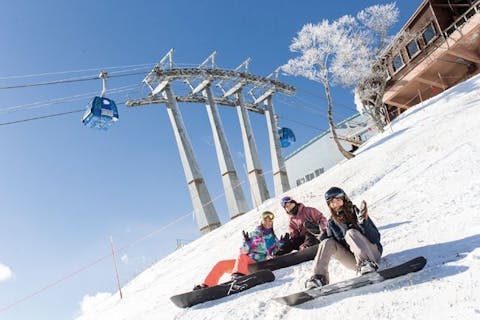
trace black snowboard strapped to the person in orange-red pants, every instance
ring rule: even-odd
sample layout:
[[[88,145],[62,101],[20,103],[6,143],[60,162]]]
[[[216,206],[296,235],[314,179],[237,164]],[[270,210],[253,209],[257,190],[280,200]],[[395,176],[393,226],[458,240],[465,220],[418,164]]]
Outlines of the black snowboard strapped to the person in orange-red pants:
[[[273,280],[275,280],[275,276],[272,271],[261,270],[214,287],[178,294],[171,297],[170,300],[180,308],[187,308],[199,303],[220,299]]]

